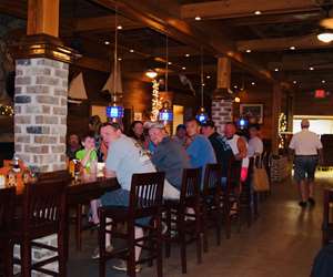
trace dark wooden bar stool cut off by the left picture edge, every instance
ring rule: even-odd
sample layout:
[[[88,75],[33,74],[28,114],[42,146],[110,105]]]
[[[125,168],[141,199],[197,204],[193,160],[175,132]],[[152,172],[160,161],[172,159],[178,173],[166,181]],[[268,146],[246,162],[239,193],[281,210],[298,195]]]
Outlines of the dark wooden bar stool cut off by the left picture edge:
[[[11,277],[13,275],[12,220],[14,216],[14,199],[16,187],[0,189],[0,253],[3,274],[7,277]]]

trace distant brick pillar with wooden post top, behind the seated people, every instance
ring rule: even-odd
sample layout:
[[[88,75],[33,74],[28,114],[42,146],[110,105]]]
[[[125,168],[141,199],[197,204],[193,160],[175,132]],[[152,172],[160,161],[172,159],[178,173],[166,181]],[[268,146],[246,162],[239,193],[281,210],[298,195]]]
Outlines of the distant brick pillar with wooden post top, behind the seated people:
[[[216,90],[212,100],[212,120],[218,132],[224,132],[224,125],[232,121],[233,99],[230,94],[231,61],[229,58],[218,59]]]

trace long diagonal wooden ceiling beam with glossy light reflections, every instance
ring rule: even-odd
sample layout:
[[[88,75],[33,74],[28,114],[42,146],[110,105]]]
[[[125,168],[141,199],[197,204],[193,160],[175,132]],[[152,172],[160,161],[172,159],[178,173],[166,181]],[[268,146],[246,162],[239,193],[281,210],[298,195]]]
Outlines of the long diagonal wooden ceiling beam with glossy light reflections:
[[[138,1],[132,0],[92,1],[109,9],[114,9],[117,4],[119,12],[132,20],[139,21],[161,33],[167,33],[171,38],[181,41],[186,45],[191,45],[194,49],[203,47],[206,54],[229,57],[244,70],[252,72],[259,78],[266,79],[272,82],[274,81],[269,71],[236,52],[233,41],[228,38],[223,38],[223,34],[221,33],[211,33],[209,28],[205,30],[199,30],[194,27],[194,24],[190,24],[185,20],[181,19],[180,14],[178,16],[176,12],[171,14],[168,9],[168,4],[160,6],[152,2],[149,4],[145,3],[147,1],[140,1],[140,4],[138,4]]]

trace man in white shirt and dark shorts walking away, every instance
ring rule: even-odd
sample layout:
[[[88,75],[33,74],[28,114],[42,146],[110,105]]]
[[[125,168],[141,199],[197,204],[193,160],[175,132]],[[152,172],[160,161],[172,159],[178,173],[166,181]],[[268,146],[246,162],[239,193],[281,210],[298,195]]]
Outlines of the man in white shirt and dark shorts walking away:
[[[301,207],[315,204],[314,195],[314,173],[317,163],[322,162],[323,145],[319,136],[309,131],[309,120],[302,120],[302,131],[294,134],[290,142],[291,154],[294,154],[294,178],[299,184]],[[307,181],[307,182],[306,182]],[[307,184],[306,184],[307,183]]]

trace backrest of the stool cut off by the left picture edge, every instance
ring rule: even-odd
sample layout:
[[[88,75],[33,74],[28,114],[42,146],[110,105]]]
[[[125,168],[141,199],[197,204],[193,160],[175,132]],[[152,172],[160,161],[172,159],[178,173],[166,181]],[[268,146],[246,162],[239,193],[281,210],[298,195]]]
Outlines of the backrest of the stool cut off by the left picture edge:
[[[11,229],[16,201],[16,187],[0,189],[0,232],[7,233]]]

